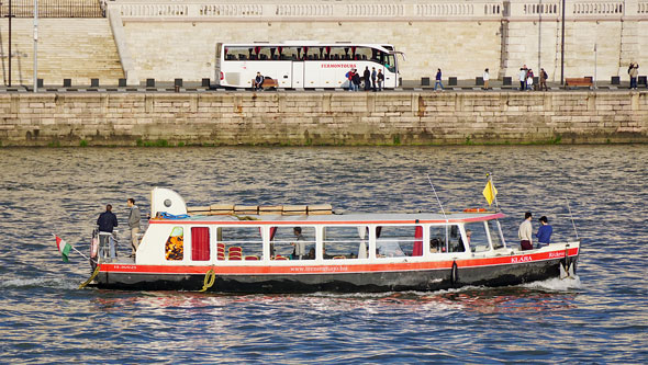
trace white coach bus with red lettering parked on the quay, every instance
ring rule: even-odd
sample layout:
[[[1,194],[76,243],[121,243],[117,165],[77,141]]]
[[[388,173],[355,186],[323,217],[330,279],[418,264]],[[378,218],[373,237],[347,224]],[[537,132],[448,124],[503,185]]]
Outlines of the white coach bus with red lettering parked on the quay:
[[[283,42],[216,44],[215,77],[222,87],[250,88],[257,72],[277,80],[279,88],[344,88],[345,75],[365,67],[382,70],[383,88],[399,87],[396,54],[391,45]]]

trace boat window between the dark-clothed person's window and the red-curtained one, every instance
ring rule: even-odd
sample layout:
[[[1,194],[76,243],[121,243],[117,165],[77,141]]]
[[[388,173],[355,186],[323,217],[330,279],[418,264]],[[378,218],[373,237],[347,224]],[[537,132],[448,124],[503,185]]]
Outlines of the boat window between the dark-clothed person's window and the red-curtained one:
[[[366,259],[368,242],[367,226],[324,227],[324,259]]]

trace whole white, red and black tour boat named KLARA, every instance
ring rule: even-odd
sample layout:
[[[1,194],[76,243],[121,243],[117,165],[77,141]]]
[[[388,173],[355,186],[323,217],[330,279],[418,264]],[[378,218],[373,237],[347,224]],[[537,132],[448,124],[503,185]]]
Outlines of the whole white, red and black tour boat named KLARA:
[[[333,214],[323,206],[188,208],[152,191],[135,258],[101,253],[89,284],[222,293],[438,290],[573,274],[580,242],[506,246],[502,213]],[[97,252],[97,250],[96,250]],[[101,252],[101,250],[99,250]],[[562,273],[562,274],[561,274]]]

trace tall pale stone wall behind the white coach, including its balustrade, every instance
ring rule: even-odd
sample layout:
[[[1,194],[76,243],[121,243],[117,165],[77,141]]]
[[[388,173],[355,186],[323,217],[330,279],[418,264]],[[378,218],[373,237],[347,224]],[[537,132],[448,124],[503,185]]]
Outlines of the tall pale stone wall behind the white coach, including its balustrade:
[[[489,68],[492,78],[515,80],[527,65],[558,81],[562,44],[567,78],[627,81],[630,61],[648,64],[648,0],[115,0],[108,8],[133,58],[124,68],[139,80],[213,79],[217,42],[389,43],[406,55],[403,80],[437,68],[445,78],[474,80]]]

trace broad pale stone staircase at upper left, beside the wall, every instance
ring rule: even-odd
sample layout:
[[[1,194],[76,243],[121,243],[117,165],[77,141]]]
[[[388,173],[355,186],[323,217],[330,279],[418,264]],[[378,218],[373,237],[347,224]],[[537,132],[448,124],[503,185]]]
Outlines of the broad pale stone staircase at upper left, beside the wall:
[[[33,20],[12,21],[12,85],[33,85]],[[9,27],[0,22],[1,78],[9,79]],[[107,19],[40,19],[38,78],[45,85],[116,84],[124,77],[112,31]]]

